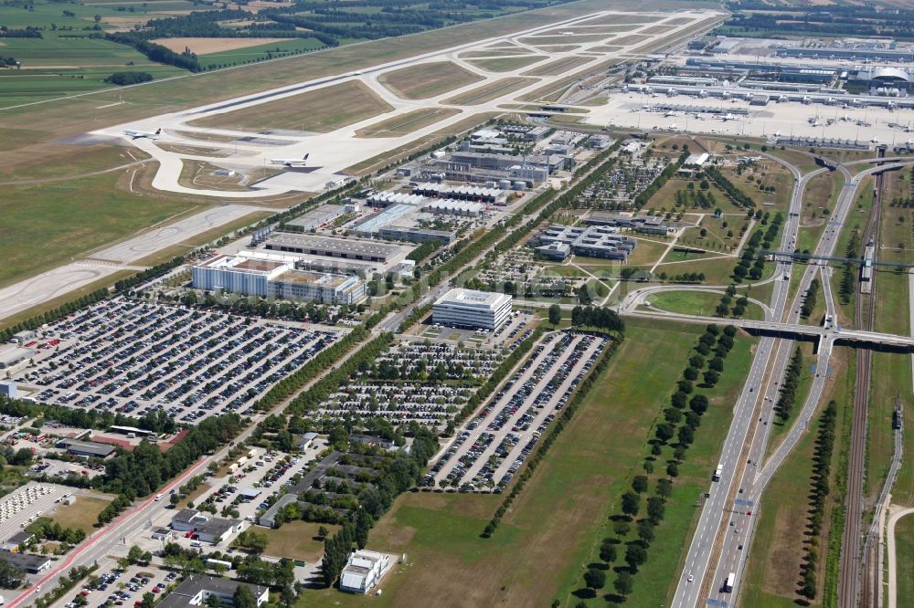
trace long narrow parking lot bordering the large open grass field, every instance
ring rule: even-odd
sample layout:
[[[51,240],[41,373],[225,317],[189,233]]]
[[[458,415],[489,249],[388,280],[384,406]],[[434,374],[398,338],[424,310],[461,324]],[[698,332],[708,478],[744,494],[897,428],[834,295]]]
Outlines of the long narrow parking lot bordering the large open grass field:
[[[425,485],[500,491],[523,466],[605,344],[603,338],[584,334],[548,335],[433,459]]]

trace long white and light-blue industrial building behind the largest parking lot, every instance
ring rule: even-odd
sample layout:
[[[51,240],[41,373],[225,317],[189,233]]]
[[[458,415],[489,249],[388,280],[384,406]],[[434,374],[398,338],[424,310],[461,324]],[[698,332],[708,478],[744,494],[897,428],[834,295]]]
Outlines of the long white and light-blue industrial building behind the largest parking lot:
[[[367,297],[360,278],[299,270],[293,257],[270,254],[213,257],[195,265],[191,277],[196,289],[223,289],[261,298],[357,304]]]

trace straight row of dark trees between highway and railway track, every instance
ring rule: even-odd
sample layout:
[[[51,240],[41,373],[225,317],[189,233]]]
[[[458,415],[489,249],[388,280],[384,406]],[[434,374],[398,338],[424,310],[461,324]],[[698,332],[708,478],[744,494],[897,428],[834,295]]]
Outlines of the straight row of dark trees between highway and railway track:
[[[815,599],[818,584],[816,571],[819,563],[819,538],[822,535],[822,521],[825,516],[825,498],[828,497],[829,475],[832,468],[834,450],[834,427],[837,424],[838,407],[834,401],[829,402],[819,419],[819,432],[815,438],[813,454],[812,489],[809,502],[809,542],[806,543],[806,557],[801,569],[800,594],[812,602]],[[839,534],[839,530],[833,530]]]

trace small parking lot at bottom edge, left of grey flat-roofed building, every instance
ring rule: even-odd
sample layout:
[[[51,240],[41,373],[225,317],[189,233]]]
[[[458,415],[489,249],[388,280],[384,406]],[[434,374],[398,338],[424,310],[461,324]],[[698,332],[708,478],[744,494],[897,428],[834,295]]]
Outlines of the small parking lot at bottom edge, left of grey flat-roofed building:
[[[175,573],[150,566],[130,566],[126,571],[119,571],[111,560],[102,561],[101,568],[95,574],[99,577],[98,585],[74,587],[71,592],[51,604],[52,608],[73,608],[78,605],[76,598],[80,595],[85,598],[85,605],[89,608],[138,606],[143,602],[144,593],[159,596],[177,579]]]

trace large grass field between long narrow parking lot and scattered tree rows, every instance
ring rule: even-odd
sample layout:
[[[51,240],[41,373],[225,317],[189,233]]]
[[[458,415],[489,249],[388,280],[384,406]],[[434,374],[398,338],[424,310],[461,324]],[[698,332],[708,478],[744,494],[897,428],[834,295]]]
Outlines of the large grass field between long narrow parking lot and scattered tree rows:
[[[633,323],[609,369],[491,539],[479,535],[500,504],[499,497],[415,493],[398,498],[372,530],[368,546],[406,553],[408,565],[395,568],[383,585],[384,594],[372,602],[428,605],[434,590],[434,602],[442,606],[531,606],[550,598],[572,605],[569,595],[579,586],[582,566],[605,535],[606,515],[616,510],[632,471],[640,465],[654,418],[671,392],[669,369],[683,363],[699,331]],[[740,350],[748,351],[743,341],[731,353],[733,370]],[[644,361],[654,365],[644,366]],[[632,382],[634,377],[640,382]],[[705,426],[699,436],[713,432],[715,425]],[[722,426],[721,432],[725,429]],[[696,455],[701,449],[697,444]],[[697,456],[695,460],[699,466]],[[708,471],[702,475],[707,477]],[[671,509],[667,508],[669,521]],[[652,561],[664,563],[661,541],[654,547]],[[675,563],[675,555],[669,557]],[[544,563],[550,567],[544,568]],[[442,578],[442,571],[449,575]],[[650,580],[650,575],[640,574],[638,584],[648,585]],[[314,605],[315,600],[341,606],[358,602],[320,591],[305,592],[300,604]]]

